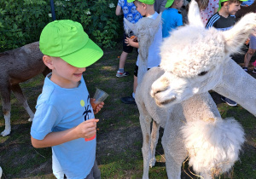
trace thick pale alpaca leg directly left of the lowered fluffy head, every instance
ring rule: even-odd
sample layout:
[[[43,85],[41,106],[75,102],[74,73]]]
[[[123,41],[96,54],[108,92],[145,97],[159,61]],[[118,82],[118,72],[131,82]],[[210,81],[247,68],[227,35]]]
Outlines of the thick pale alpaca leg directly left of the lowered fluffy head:
[[[175,118],[175,120],[180,121],[179,118]],[[167,176],[172,179],[181,177],[181,167],[187,156],[182,136],[176,132],[178,129],[177,126],[172,126],[169,121],[166,124],[162,137],[162,146],[166,156]]]

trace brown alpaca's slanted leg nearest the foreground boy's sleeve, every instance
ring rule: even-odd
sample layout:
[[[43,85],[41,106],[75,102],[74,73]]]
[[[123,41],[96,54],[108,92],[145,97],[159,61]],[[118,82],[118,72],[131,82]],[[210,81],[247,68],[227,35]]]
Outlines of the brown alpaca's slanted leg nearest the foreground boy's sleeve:
[[[11,86],[11,90],[14,92],[15,97],[18,99],[18,101],[20,101],[20,103],[26,109],[26,112],[30,116],[30,118],[28,118],[28,121],[32,121],[33,118],[34,118],[34,113],[32,113],[31,108],[28,106],[26,98],[23,95],[22,90],[20,89],[20,85],[19,84],[13,84]]]

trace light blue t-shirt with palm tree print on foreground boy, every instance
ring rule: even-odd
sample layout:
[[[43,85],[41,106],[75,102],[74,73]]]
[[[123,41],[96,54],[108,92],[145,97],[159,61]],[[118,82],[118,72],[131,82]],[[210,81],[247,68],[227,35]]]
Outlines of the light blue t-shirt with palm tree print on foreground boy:
[[[50,132],[68,130],[85,119],[95,118],[90,106],[90,95],[81,79],[77,88],[64,89],[44,80],[42,94],[38,97],[37,111],[32,121],[31,136],[43,140]],[[79,138],[52,147],[52,168],[56,178],[85,178],[96,159],[96,138],[84,141]]]

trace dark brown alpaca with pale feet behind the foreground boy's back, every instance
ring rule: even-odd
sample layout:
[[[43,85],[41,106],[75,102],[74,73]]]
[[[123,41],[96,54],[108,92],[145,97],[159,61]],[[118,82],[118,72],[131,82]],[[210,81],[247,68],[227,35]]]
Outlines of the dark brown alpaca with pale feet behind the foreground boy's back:
[[[50,72],[42,60],[43,54],[39,49],[39,43],[30,43],[18,49],[12,49],[0,53],[0,95],[5,119],[5,130],[2,136],[9,135],[10,127],[10,91],[20,101],[29,114],[29,121],[34,118],[34,113],[27,104],[26,98],[20,89],[20,83],[37,76],[43,72],[44,76]]]

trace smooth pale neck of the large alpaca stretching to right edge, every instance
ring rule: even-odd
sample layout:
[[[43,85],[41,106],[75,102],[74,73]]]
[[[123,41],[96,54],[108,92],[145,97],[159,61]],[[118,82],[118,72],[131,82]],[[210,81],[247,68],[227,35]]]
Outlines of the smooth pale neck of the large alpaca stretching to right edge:
[[[256,116],[256,80],[233,60],[228,61],[223,67],[222,83],[213,90],[236,101]]]

